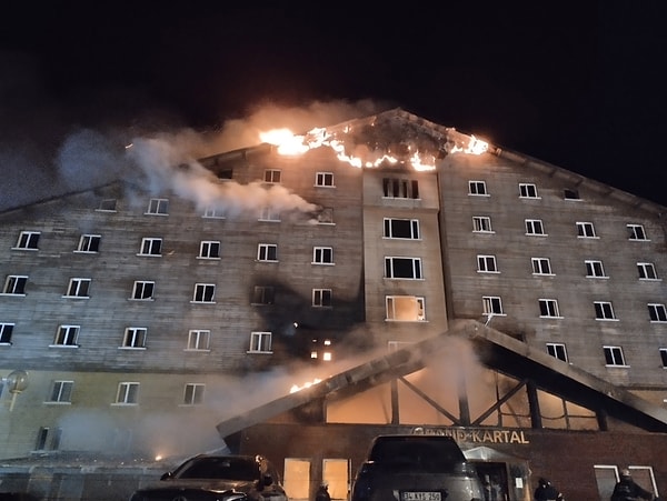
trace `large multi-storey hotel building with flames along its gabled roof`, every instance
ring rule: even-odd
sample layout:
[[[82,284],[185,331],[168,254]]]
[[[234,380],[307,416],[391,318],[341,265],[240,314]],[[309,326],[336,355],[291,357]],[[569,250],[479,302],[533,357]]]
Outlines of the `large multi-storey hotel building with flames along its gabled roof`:
[[[418,432],[511,501],[667,489],[665,207],[399,109],[172,153],[0,213],[3,485],[223,448],[346,499]]]

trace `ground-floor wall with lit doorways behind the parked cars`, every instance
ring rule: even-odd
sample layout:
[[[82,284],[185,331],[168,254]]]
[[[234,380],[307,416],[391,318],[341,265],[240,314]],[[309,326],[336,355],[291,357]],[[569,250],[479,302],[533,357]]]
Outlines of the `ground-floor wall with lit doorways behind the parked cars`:
[[[530,501],[537,479],[547,477],[566,499],[608,501],[624,468],[630,468],[635,480],[657,495],[667,493],[667,434],[636,430],[262,423],[212,445],[266,454],[282,471],[290,501],[312,500],[322,480],[336,501],[348,498],[375,435],[410,432],[455,437],[480,473],[500,482],[505,494],[500,500]],[[57,453],[0,460],[0,500],[127,501],[135,489],[158,481],[182,459],[142,464],[113,462],[102,454],[72,459]]]

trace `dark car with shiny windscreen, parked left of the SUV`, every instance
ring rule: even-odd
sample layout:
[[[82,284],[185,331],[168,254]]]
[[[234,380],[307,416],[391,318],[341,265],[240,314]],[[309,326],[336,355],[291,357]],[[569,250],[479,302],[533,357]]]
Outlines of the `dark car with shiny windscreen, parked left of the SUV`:
[[[130,501],[288,501],[278,471],[262,455],[199,454]]]

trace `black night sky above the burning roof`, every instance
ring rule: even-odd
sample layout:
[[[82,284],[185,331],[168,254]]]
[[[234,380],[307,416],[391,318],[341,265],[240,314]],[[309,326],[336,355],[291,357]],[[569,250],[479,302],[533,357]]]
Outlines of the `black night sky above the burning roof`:
[[[667,204],[664,1],[368,3],[4,6],[0,168],[48,178],[77,128],[370,99]]]

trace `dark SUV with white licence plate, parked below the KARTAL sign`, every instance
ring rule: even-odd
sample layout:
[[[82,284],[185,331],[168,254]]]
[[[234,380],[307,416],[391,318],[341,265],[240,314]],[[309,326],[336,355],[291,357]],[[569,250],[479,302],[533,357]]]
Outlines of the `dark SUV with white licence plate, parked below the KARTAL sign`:
[[[359,467],[351,501],[481,501],[475,465],[451,437],[379,435]]]

